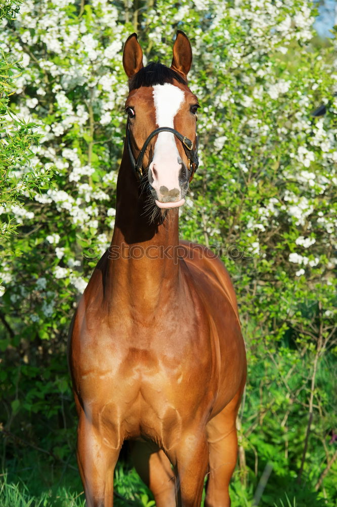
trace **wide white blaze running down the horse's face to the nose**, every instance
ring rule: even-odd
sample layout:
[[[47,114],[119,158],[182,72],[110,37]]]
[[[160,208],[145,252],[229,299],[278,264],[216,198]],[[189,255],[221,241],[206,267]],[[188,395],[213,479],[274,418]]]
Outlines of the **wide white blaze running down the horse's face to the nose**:
[[[153,99],[158,127],[174,128],[174,118],[185,98],[185,93],[177,86],[165,83],[153,87]],[[153,176],[152,187],[160,198],[160,187],[167,190],[178,189],[181,158],[177,149],[175,135],[160,132],[154,146],[153,160],[150,164]],[[180,198],[180,197],[179,197]],[[172,201],[176,200],[173,198]]]

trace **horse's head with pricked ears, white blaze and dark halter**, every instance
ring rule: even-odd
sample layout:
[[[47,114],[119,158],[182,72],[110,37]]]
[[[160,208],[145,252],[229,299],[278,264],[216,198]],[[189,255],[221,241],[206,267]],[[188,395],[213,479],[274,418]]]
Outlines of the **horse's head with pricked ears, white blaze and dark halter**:
[[[171,67],[143,66],[143,52],[133,33],[124,46],[123,66],[129,78],[127,143],[136,172],[148,178],[159,208],[184,204],[197,168],[198,100],[187,86],[192,50],[178,31]]]

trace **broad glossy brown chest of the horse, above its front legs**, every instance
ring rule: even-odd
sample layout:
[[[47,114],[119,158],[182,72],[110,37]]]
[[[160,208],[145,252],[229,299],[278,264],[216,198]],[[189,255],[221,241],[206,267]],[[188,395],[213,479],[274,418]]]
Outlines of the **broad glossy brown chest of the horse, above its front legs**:
[[[183,310],[148,321],[114,311],[81,337],[80,396],[100,425],[155,438],[208,413],[216,395],[209,328]]]

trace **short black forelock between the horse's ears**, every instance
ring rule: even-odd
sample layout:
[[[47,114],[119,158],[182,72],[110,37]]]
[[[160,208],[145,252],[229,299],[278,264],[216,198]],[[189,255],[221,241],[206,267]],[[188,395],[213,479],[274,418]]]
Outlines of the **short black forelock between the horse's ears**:
[[[166,65],[159,62],[150,62],[146,67],[141,68],[130,80],[129,88],[131,91],[141,86],[163,85],[164,83],[172,84],[174,79],[184,85],[187,84],[186,79],[176,72],[176,70],[166,67]]]

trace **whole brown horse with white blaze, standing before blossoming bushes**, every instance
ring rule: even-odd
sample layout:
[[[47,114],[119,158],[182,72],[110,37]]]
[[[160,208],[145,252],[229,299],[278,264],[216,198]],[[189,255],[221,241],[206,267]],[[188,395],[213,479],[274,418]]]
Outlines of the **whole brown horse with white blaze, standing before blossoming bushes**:
[[[207,472],[205,505],[230,505],[245,348],[222,262],[178,238],[178,208],[198,163],[191,62],[181,31],[171,68],[144,67],[135,33],[124,46],[130,93],[115,228],[69,344],[88,507],[113,504],[124,440],[157,507],[199,506]]]

